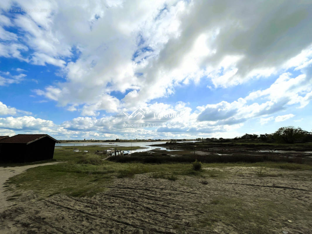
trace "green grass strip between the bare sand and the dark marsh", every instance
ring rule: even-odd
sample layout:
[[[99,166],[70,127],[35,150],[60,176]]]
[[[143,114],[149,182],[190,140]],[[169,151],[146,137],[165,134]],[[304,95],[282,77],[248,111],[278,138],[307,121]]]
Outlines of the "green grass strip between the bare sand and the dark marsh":
[[[67,161],[56,165],[30,168],[25,173],[10,178],[8,185],[15,184],[18,189],[35,191],[40,197],[54,194],[68,196],[93,196],[105,191],[113,178],[134,177],[135,174],[149,173],[151,178],[177,180],[179,176],[199,176],[202,178],[224,178],[226,174],[218,170],[205,168],[218,167],[266,167],[286,170],[310,170],[312,165],[305,163],[287,163],[265,161],[264,157],[205,157],[187,155],[170,156],[129,156],[110,157],[101,160],[100,156],[82,152],[56,153],[58,160]],[[193,164],[202,165],[200,170],[194,170]],[[201,163],[199,163],[199,160]],[[291,159],[292,160],[292,159]],[[115,161],[115,162],[114,162]],[[123,163],[118,163],[123,162]],[[142,163],[144,162],[144,163]],[[207,163],[209,162],[209,163]],[[196,166],[198,168],[199,166]],[[262,172],[259,172],[262,176]]]

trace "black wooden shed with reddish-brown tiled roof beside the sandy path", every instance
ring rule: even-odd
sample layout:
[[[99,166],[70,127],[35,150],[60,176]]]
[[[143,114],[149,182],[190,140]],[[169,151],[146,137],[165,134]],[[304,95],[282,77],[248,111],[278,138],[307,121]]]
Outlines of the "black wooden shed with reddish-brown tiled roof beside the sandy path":
[[[0,162],[36,162],[52,159],[58,140],[47,134],[0,136]]]

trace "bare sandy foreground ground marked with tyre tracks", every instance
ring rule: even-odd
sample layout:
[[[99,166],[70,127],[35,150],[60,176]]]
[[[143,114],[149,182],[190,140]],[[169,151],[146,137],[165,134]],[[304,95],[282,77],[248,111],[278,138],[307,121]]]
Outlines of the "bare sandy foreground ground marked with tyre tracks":
[[[218,197],[251,201],[244,203],[251,212],[257,212],[253,201],[277,202],[291,212],[272,211],[269,233],[312,233],[312,222],[307,221],[312,220],[307,208],[312,199],[311,172],[268,169],[271,174],[282,175],[258,177],[258,168],[205,169],[227,176],[179,176],[169,181],[139,174],[116,178],[105,192],[82,198],[54,195],[37,199],[28,193],[0,215],[0,233],[238,233],[235,223],[224,225],[222,219],[214,220],[209,230],[194,228],[202,217],[209,217],[209,211],[202,207]],[[237,216],[244,208],[232,206]]]

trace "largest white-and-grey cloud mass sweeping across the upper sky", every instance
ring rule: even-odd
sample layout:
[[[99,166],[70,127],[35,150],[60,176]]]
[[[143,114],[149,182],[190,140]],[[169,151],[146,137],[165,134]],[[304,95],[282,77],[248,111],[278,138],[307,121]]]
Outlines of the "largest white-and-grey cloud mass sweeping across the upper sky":
[[[267,77],[294,66],[285,61],[295,57],[298,66],[306,65],[302,58],[310,55],[311,7],[296,2],[89,1],[73,3],[75,12],[65,2],[17,2],[52,12],[18,15],[12,22],[2,17],[25,33],[27,46],[7,51],[12,42],[0,54],[63,68],[66,82],[42,95],[63,106],[83,105],[83,115],[116,110],[112,91],[129,90],[121,100],[129,106],[171,95],[175,85],[202,77],[215,87]],[[35,52],[22,58],[19,50],[28,48]],[[66,63],[73,48],[80,56]]]

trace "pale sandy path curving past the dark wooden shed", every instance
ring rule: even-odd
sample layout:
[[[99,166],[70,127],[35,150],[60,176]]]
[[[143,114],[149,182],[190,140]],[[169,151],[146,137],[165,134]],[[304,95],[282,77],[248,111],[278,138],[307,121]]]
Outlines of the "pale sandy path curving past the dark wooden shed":
[[[39,166],[46,166],[46,165],[53,165],[56,163],[61,162],[54,162],[54,163],[42,163],[42,164],[34,164],[34,165],[27,165],[27,166],[20,166],[20,167],[0,167],[0,212],[5,210],[5,207],[9,205],[7,199],[7,193],[4,191],[3,184],[12,176],[20,174],[26,171],[28,168],[39,167]]]

